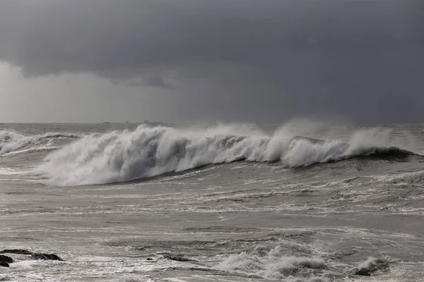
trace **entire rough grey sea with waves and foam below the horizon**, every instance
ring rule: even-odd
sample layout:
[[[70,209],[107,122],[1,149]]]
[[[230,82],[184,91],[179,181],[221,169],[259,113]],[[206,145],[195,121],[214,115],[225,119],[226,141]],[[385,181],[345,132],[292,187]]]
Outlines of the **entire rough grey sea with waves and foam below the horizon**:
[[[0,124],[0,281],[424,281],[424,125]],[[0,250],[0,251],[1,251]]]

